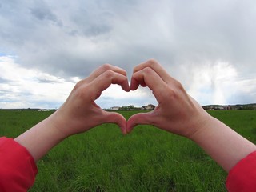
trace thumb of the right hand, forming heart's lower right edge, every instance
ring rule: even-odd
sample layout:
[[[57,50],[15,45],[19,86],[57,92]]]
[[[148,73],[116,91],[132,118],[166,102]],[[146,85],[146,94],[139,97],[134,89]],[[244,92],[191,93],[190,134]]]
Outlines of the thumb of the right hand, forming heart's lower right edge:
[[[127,133],[130,133],[137,125],[153,125],[152,120],[152,112],[134,114],[127,121]]]

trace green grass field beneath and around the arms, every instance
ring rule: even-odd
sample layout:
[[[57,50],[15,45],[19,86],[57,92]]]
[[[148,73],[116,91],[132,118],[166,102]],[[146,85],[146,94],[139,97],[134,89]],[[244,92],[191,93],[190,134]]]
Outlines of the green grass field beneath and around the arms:
[[[14,138],[50,113],[0,110],[0,136]],[[210,114],[256,143],[256,111]],[[226,191],[226,173],[194,142],[153,126],[123,136],[105,124],[74,135],[42,158],[38,170],[31,192]]]

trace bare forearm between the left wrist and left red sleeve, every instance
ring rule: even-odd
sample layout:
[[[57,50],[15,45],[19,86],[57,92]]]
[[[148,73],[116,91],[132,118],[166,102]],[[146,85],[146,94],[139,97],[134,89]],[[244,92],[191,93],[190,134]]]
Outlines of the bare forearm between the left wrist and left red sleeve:
[[[66,136],[56,127],[55,114],[33,126],[14,140],[26,147],[37,162],[50,149],[61,142]]]

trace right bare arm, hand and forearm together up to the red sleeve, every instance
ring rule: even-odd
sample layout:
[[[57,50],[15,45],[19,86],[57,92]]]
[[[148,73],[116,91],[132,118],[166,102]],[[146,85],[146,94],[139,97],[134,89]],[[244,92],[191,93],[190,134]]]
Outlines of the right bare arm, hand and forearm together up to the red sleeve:
[[[152,90],[158,106],[150,113],[130,117],[128,133],[136,125],[147,124],[190,138],[226,171],[256,150],[253,143],[206,113],[181,83],[153,59],[134,68],[130,90],[137,90],[140,85]]]

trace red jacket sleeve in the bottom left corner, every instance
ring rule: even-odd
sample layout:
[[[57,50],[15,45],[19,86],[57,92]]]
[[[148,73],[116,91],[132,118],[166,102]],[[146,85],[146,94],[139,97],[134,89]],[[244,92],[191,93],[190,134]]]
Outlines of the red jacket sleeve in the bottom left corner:
[[[34,158],[12,138],[0,138],[0,191],[27,191],[38,173]]]

